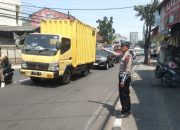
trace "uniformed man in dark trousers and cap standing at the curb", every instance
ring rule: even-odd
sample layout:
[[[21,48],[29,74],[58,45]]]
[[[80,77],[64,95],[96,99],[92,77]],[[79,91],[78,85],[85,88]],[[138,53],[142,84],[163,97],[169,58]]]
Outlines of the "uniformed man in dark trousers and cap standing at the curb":
[[[120,61],[119,69],[119,96],[122,106],[122,115],[131,114],[131,101],[130,101],[130,83],[131,83],[131,71],[133,58],[129,51],[130,43],[122,43],[121,51],[123,57]]]

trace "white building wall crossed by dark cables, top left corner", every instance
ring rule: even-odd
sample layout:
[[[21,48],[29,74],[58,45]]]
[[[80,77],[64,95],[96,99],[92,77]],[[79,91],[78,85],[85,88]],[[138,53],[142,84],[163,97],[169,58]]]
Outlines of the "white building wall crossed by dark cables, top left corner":
[[[3,4],[3,3],[8,3],[8,4]],[[7,25],[7,26],[21,26],[22,25],[22,20],[20,20],[20,18],[18,19],[18,23],[16,21],[16,5],[20,7],[19,12],[21,12],[21,0],[0,0],[0,26],[1,25]],[[12,10],[12,11],[7,11],[3,9]],[[3,17],[2,15],[10,16],[13,18]],[[21,16],[21,14],[19,14],[19,16]]]

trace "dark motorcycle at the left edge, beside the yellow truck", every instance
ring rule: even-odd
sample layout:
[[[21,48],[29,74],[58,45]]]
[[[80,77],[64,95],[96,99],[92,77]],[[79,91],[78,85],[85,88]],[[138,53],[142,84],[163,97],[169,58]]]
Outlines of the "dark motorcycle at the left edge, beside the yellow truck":
[[[8,57],[5,57],[3,59],[3,75],[4,75],[4,82],[5,84],[11,83],[12,82],[12,77],[14,75],[14,69],[12,68],[11,63],[9,62]]]

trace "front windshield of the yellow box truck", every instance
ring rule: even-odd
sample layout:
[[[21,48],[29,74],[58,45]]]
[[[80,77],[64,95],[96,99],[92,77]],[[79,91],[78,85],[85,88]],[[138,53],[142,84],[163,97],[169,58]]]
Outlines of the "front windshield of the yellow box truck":
[[[29,34],[24,43],[23,52],[32,54],[47,54],[57,51],[58,35]]]

